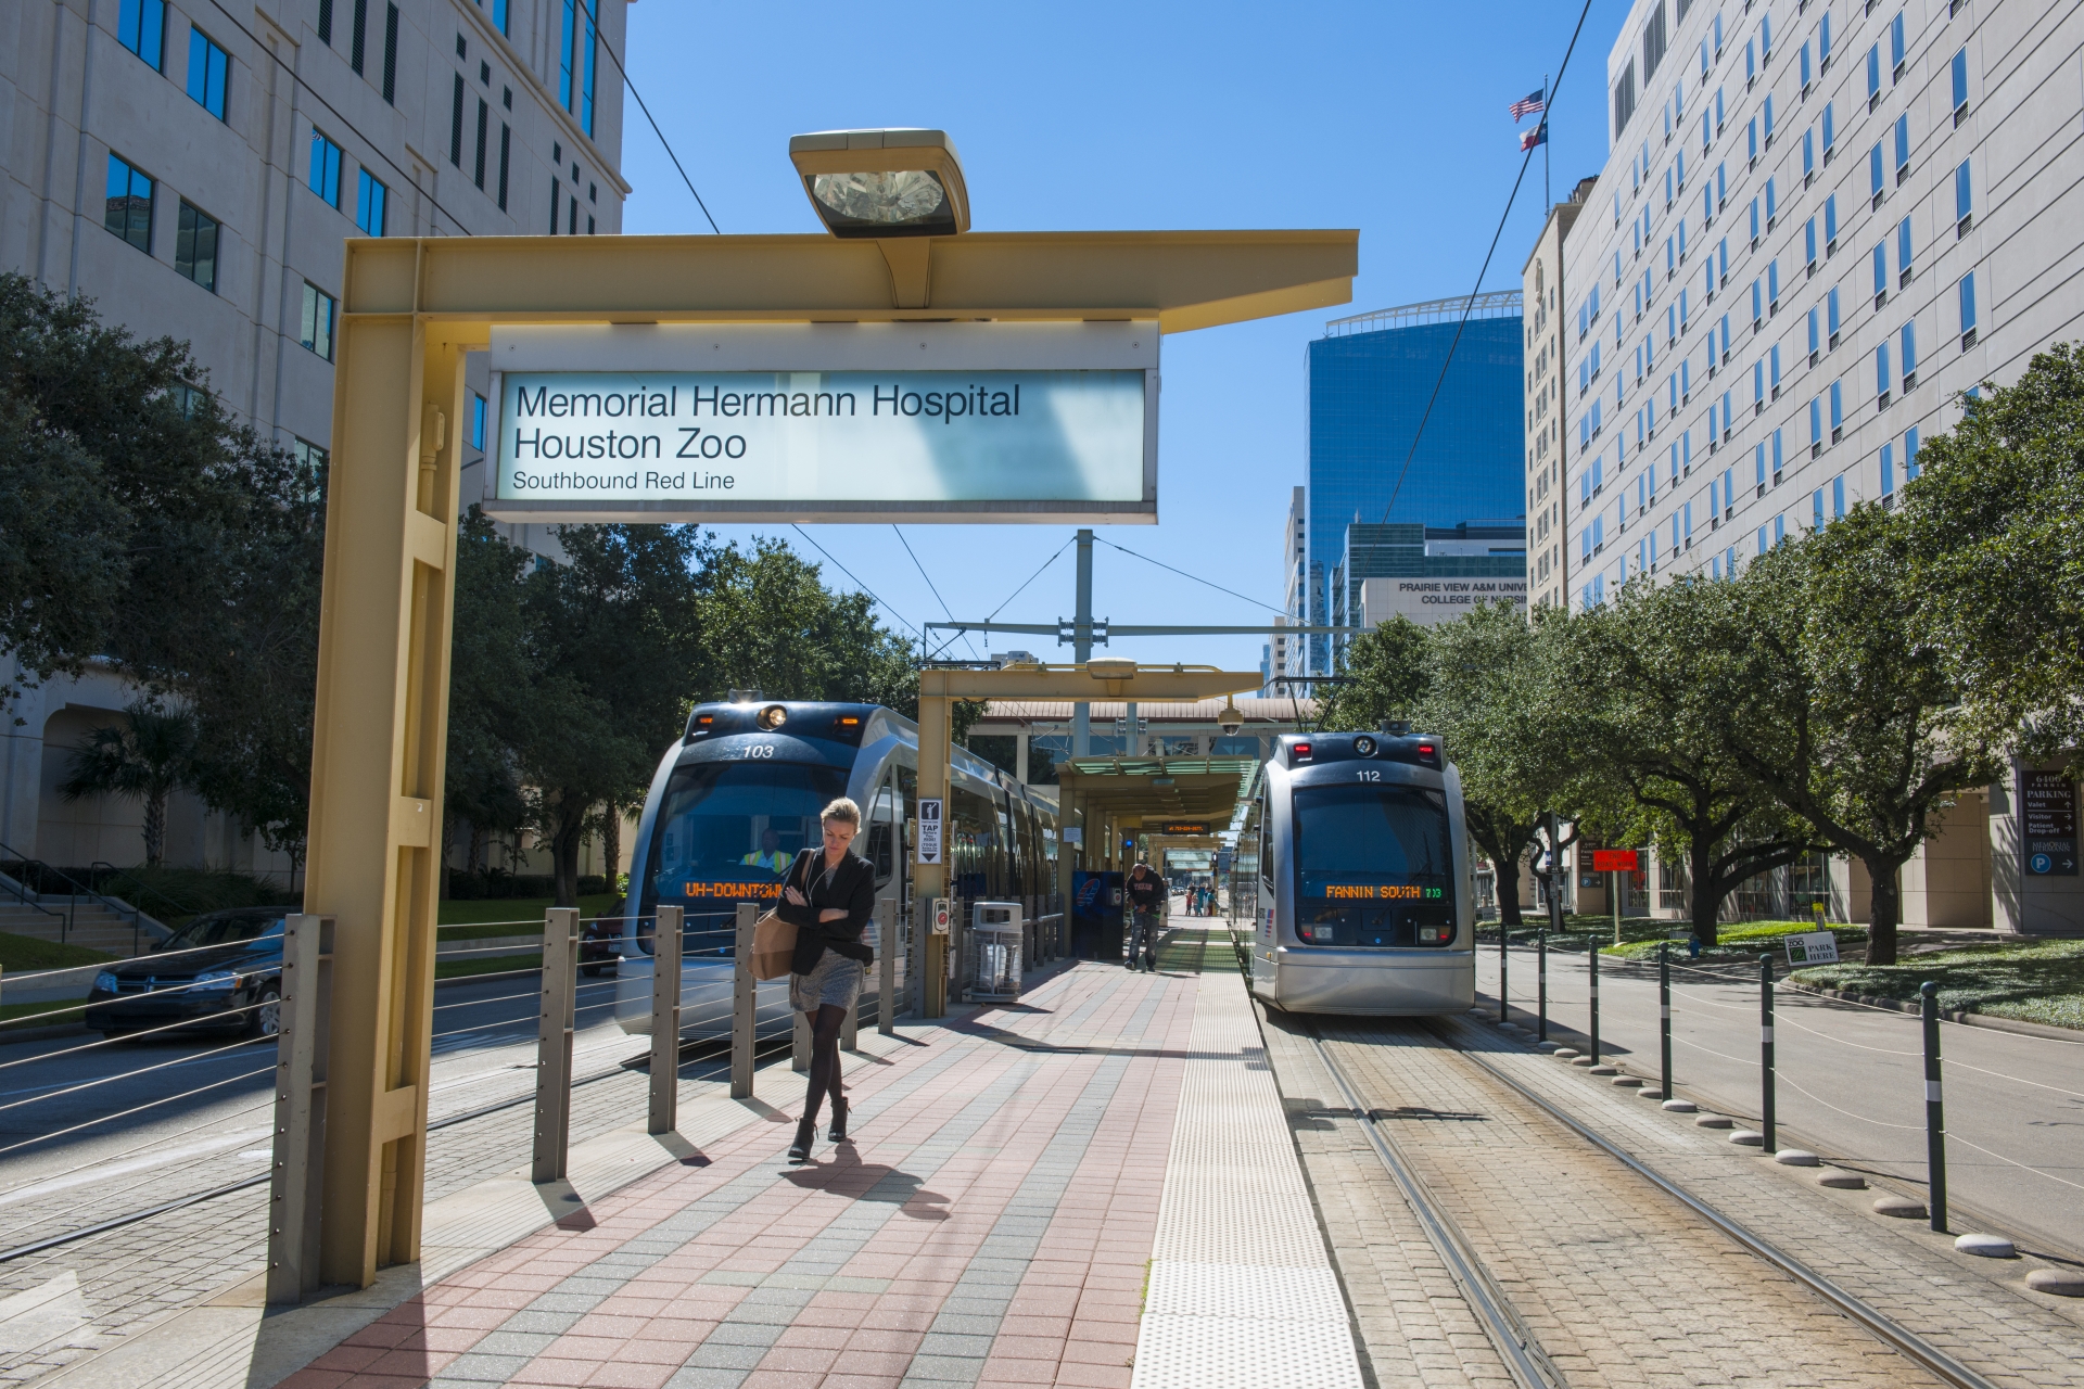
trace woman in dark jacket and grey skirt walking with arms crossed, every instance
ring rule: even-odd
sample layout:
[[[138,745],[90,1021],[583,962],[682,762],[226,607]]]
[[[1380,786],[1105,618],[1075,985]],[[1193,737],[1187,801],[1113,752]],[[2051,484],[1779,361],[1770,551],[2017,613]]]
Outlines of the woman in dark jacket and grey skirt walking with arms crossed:
[[[802,850],[790,864],[777,914],[796,927],[790,960],[790,1006],[811,1018],[811,1089],[796,1120],[790,1162],[809,1162],[817,1141],[817,1108],[832,1095],[832,1141],[846,1141],[846,1095],[840,1089],[840,1025],[861,997],[863,964],[875,952],[861,933],[875,910],[875,868],[852,852],[861,806],[844,795],[819,814],[821,850]]]

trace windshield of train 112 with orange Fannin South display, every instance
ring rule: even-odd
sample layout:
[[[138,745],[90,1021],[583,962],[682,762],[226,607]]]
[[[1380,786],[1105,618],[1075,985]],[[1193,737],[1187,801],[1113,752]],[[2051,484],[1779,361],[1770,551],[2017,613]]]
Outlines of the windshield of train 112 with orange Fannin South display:
[[[1446,798],[1423,787],[1296,787],[1296,933],[1311,945],[1448,945]]]

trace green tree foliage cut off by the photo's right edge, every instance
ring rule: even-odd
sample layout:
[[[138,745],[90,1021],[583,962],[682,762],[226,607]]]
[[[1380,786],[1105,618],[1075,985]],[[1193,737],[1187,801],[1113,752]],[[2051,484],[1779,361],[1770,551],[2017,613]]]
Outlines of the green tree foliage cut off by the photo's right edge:
[[[2017,756],[2084,743],[2084,350],[1980,387],[1903,487],[1911,591],[1959,725]]]

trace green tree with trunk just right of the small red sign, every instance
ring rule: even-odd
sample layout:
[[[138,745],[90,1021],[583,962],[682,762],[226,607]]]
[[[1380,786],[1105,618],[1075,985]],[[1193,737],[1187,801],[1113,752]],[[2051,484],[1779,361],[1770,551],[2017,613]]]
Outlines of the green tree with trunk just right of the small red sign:
[[[1732,650],[1730,585],[1630,583],[1567,625],[1563,685],[1584,702],[1580,748],[1634,802],[1632,841],[1686,862],[1694,937],[1713,945],[1721,904],[1746,879],[1821,848],[1723,743],[1721,687]]]

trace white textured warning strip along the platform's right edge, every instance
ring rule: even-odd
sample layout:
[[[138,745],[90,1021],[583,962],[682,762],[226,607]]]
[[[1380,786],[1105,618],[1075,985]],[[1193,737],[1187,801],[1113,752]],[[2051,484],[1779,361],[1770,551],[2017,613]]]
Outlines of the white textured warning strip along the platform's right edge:
[[[1238,975],[1202,975],[1132,1389],[1361,1389]]]

